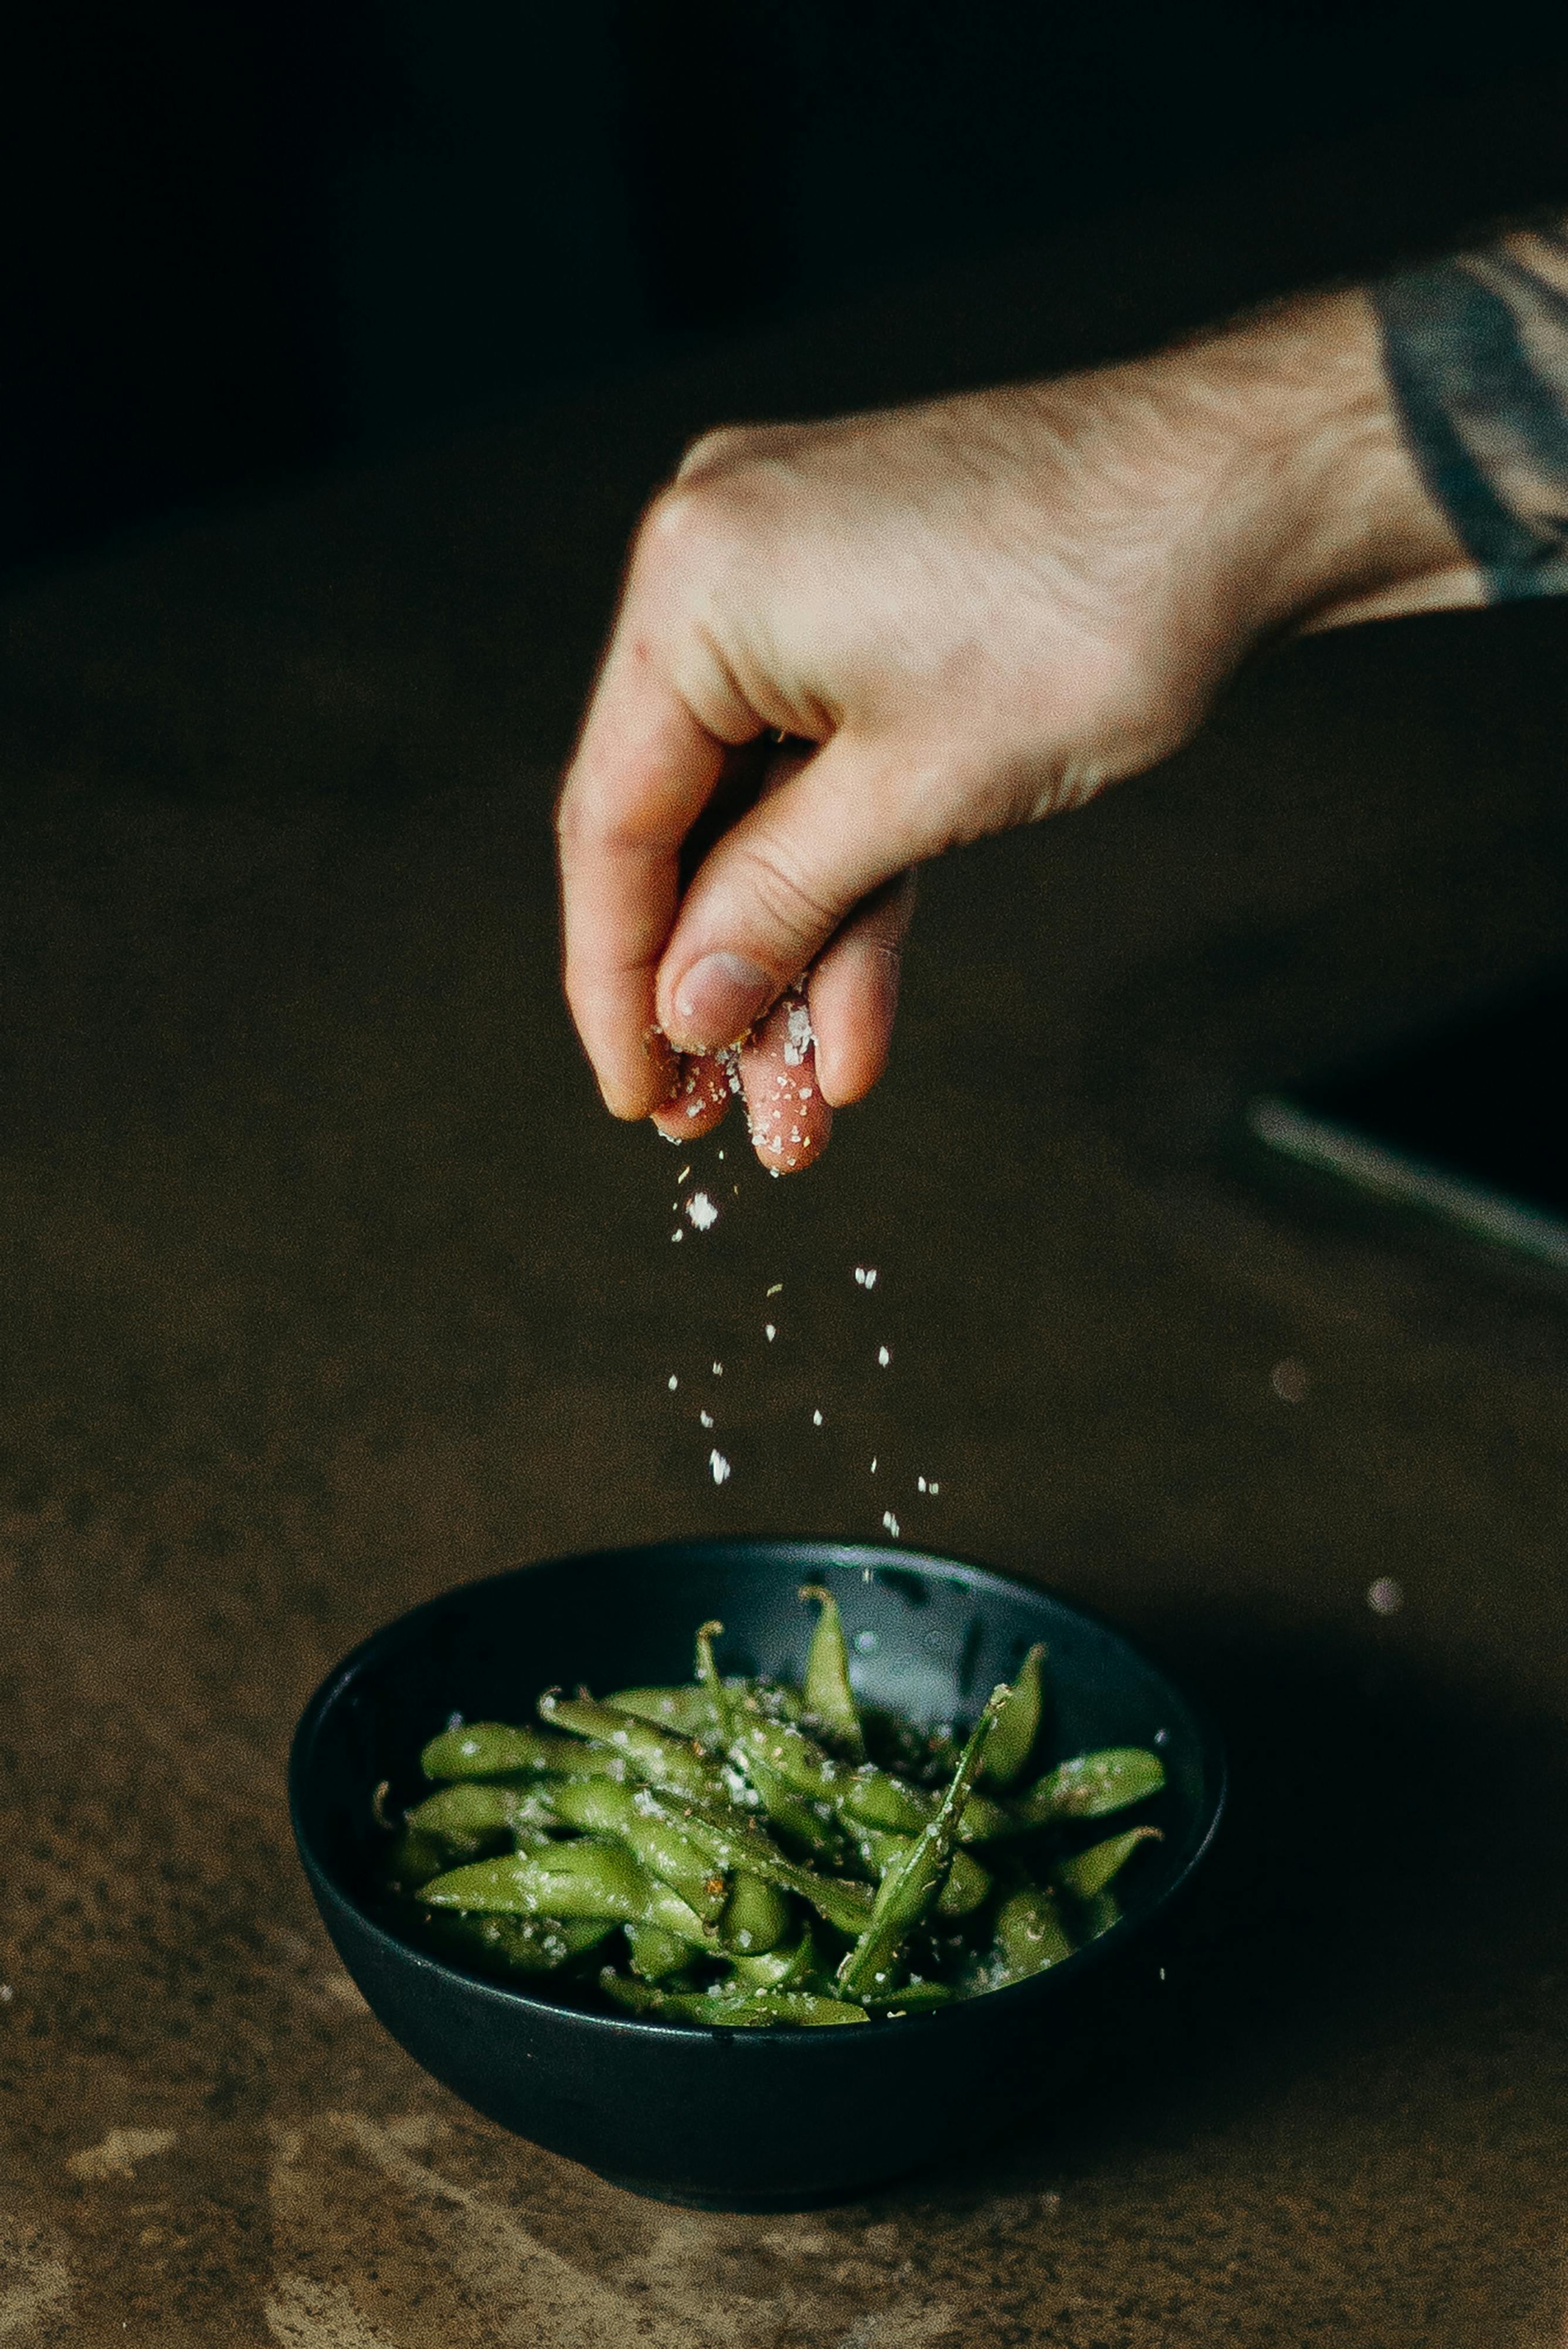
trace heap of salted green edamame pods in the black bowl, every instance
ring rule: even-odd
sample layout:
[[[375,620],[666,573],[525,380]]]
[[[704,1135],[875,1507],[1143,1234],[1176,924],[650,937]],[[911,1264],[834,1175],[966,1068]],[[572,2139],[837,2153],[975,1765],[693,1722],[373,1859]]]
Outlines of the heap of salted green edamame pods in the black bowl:
[[[1110,1931],[1113,1886],[1160,1830],[1082,1851],[1070,1830],[1157,1795],[1160,1757],[1113,1745],[1040,1773],[1042,1647],[962,1745],[861,1705],[836,1600],[803,1597],[819,1609],[803,1691],[723,1677],[723,1626],[702,1623],[685,1689],[547,1691],[542,1727],[432,1738],[437,1792],[401,1820],[385,1788],[371,1806],[411,1931],[500,1980],[577,1985],[575,1961],[620,1931],[603,1997],[718,2030],[930,2013]]]

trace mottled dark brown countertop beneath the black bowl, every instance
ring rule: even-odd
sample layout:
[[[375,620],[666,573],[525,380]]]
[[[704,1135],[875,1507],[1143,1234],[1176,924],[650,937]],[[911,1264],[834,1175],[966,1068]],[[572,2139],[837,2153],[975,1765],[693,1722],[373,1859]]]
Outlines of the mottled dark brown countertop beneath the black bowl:
[[[707,1240],[669,1245],[674,1160],[599,1113],[556,1001],[552,768],[683,435],[1268,284],[1209,230],[1084,235],[1049,301],[1021,265],[892,296],[12,599],[19,2349],[1561,2342],[1566,1308],[1270,1196],[1223,1132],[1253,1078],[1568,951],[1568,608],[1298,646],[1160,778],[934,874],[880,1095],[793,1184],[721,1137]],[[944,2175],[638,2203],[373,2025],[293,1863],[291,1722],[451,1581],[883,1508],[1214,1703],[1237,1799],[1190,1945],[1080,2100]]]

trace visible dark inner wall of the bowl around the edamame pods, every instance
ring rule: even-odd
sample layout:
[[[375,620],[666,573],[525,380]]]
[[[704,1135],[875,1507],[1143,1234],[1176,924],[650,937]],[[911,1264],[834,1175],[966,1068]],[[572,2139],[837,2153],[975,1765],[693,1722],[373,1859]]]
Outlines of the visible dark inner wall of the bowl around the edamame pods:
[[[1108,1940],[1188,1875],[1223,1799],[1218,1745],[1117,1630],[984,1567],[812,1541],[688,1541],[559,1557],[467,1583],[390,1623],[331,1675],[300,1722],[291,1781],[305,1856],[352,1903],[385,1914],[373,1788],[385,1778],[394,1804],[418,1799],[420,1748],[453,1715],[528,1722],[549,1687],[587,1684],[603,1696],[634,1682],[690,1680],[692,1633],[709,1616],[725,1623],[723,1670],[798,1680],[815,1626],[815,1609],[798,1597],[805,1581],[838,1597],[852,1677],[869,1703],[922,1727],[972,1719],[1030,1642],[1045,1640],[1054,1691],[1047,1759],[1096,1745],[1160,1752],[1167,1788],[1138,1818],[1153,1818],[1164,1842],[1129,1872],[1127,1921]]]

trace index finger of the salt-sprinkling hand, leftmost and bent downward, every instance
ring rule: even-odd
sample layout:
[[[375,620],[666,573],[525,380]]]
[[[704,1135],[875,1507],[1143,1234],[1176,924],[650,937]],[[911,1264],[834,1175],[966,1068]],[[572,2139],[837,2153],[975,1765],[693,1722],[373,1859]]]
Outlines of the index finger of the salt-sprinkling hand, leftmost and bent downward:
[[[566,1001],[617,1118],[646,1118],[669,1097],[653,980],[681,902],[681,843],[725,749],[646,639],[617,632],[556,813]]]

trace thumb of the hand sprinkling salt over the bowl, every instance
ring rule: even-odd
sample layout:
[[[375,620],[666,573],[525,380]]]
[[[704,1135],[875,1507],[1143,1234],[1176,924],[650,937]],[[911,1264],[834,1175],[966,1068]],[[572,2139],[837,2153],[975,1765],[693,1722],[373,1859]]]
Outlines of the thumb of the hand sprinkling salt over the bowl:
[[[660,961],[683,1052],[737,1043],[883,881],[946,848],[951,766],[840,731],[699,864]]]

